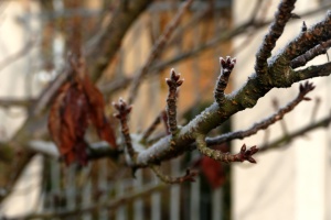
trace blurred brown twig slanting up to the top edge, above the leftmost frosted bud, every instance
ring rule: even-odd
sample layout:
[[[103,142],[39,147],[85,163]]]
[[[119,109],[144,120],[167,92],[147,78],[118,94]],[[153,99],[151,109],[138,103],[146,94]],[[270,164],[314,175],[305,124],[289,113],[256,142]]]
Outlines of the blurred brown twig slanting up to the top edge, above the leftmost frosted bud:
[[[151,53],[149,54],[146,64],[142,66],[142,68],[137,73],[135,76],[135,79],[132,81],[132,87],[129,91],[129,98],[128,103],[132,103],[137,97],[141,79],[147,75],[149,72],[151,65],[153,62],[159,57],[159,55],[162,53],[167,42],[169,41],[172,32],[177,29],[179,25],[179,22],[181,18],[183,16],[184,12],[189,9],[193,0],[186,0],[184,4],[181,7],[181,9],[178,11],[173,20],[168,24],[166,28],[164,33],[158,38],[157,43],[154,44]]]

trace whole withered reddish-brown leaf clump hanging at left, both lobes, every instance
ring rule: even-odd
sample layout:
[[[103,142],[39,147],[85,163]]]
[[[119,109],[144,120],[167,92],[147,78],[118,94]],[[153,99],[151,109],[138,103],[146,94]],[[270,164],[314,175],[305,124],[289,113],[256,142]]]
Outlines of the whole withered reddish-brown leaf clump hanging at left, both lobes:
[[[65,163],[78,161],[87,164],[84,140],[88,124],[93,124],[100,139],[116,146],[114,130],[107,121],[104,98],[86,75],[64,84],[50,111],[49,130]]]

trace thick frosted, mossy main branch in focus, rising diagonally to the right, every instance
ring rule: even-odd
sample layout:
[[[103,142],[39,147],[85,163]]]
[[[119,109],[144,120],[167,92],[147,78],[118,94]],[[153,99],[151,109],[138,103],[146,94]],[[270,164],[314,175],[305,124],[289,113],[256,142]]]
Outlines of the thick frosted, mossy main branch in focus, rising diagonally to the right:
[[[324,30],[329,26],[329,15],[318,25],[319,30]],[[330,30],[330,29],[329,29]],[[324,34],[324,32],[314,32],[314,35]],[[327,34],[328,35],[328,34]],[[314,36],[319,38],[320,36]],[[330,33],[329,33],[329,37]],[[298,45],[299,46],[299,45]],[[288,46],[284,48],[286,51]],[[279,66],[277,66],[279,67]],[[302,70],[290,70],[289,68],[275,69],[274,62],[268,65],[268,75],[253,74],[248,77],[238,90],[225,96],[225,101],[222,106],[213,103],[202,113],[200,113],[189,124],[183,127],[175,139],[169,135],[154,143],[149,148],[140,152],[137,156],[137,166],[147,166],[158,161],[169,160],[190,150],[191,144],[195,141],[194,133],[207,134],[211,130],[217,128],[234,113],[246,108],[253,108],[257,100],[265,96],[275,87],[287,88],[293,82],[317,77],[329,76],[331,74],[331,64],[312,66]]]

